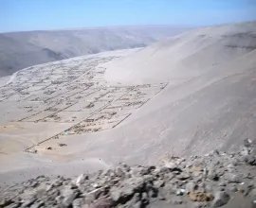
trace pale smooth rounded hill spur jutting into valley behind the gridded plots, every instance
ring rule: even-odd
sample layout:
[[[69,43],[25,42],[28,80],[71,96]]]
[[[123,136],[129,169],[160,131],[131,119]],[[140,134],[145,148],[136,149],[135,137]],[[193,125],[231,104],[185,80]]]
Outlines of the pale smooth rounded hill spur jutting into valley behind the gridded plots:
[[[197,28],[108,64],[119,82],[187,80],[256,49],[256,22]]]

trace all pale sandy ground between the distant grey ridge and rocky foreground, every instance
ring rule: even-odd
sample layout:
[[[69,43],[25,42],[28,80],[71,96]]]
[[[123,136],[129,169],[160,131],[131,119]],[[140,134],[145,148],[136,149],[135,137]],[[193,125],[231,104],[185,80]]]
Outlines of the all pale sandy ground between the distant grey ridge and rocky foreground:
[[[255,22],[212,26],[17,73],[1,88],[0,182],[157,163],[253,139],[255,34]]]

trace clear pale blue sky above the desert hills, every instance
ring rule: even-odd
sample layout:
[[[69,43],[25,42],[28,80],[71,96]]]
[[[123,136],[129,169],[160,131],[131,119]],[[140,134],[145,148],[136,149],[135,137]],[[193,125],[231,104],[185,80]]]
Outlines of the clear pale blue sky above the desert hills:
[[[0,0],[0,31],[256,20],[256,0]]]

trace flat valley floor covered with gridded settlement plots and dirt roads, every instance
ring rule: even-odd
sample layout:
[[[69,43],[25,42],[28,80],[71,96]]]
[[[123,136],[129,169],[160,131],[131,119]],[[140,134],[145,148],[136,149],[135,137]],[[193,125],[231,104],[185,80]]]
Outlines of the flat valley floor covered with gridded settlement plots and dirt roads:
[[[55,152],[67,146],[64,139],[77,134],[86,139],[87,134],[116,128],[168,85],[109,85],[101,63],[122,53],[50,62],[5,78],[0,88],[1,162],[15,154],[46,154],[57,160]]]

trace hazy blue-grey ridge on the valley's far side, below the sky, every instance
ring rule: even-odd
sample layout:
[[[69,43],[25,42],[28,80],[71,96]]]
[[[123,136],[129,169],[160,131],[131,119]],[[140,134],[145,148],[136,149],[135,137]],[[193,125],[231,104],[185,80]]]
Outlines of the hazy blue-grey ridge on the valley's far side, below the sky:
[[[185,26],[119,26],[2,33],[0,77],[43,62],[143,47],[187,29]]]

